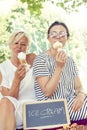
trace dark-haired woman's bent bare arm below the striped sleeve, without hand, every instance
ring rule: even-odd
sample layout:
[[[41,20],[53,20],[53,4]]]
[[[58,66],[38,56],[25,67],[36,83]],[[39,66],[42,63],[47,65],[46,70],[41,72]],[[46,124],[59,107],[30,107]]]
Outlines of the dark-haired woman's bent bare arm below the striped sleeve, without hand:
[[[52,94],[55,92],[60,79],[60,75],[61,69],[58,69],[58,67],[56,67],[52,77],[37,77],[37,82],[45,96],[51,97]]]

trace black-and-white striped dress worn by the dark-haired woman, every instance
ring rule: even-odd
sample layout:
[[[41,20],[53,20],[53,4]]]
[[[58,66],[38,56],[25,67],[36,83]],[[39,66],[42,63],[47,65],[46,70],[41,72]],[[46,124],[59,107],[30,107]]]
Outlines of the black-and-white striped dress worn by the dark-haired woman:
[[[42,92],[36,77],[48,76],[52,77],[55,70],[56,61],[53,57],[46,53],[39,54],[33,64],[33,73],[35,77],[35,94],[37,100],[48,100],[48,99],[59,99],[65,98],[68,103],[68,109],[71,120],[80,120],[87,118],[87,97],[85,99],[84,105],[79,112],[72,111],[73,100],[76,97],[74,89],[74,78],[78,76],[78,69],[76,63],[71,57],[67,57],[67,61],[62,70],[60,81],[58,82],[57,89],[52,94],[52,96],[46,97]],[[50,90],[49,90],[50,91]]]

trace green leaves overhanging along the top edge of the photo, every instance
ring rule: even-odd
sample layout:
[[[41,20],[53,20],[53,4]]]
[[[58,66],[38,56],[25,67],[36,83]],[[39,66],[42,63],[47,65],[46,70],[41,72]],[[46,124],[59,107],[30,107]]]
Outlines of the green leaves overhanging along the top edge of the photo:
[[[33,15],[40,15],[44,2],[51,2],[52,4],[62,7],[67,12],[78,11],[78,7],[87,3],[87,0],[20,0],[27,3],[28,9]]]

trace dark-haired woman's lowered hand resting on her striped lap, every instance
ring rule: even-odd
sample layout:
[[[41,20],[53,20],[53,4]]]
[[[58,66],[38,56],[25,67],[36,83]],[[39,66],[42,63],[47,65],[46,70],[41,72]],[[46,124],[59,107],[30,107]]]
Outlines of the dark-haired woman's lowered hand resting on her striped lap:
[[[79,93],[77,95],[77,97],[74,99],[73,105],[72,105],[72,109],[73,111],[79,111],[84,103],[84,94],[83,93]]]

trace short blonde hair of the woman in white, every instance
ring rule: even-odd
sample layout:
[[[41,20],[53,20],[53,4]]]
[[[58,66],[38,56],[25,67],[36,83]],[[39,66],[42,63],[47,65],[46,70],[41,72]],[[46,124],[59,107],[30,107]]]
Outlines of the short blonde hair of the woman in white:
[[[29,44],[29,37],[24,31],[16,31],[9,38],[9,45],[17,43],[21,38],[27,38]]]

